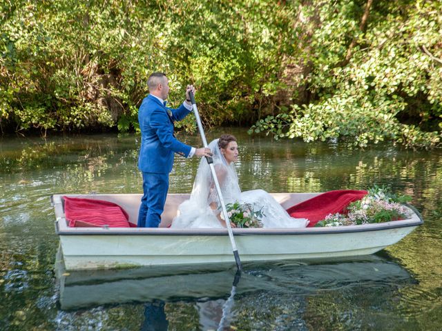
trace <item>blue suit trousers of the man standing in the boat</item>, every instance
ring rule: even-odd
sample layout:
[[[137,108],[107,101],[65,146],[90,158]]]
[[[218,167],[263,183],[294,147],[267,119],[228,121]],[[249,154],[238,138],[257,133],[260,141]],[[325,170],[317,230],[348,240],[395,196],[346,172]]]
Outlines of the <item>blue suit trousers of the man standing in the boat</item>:
[[[169,174],[143,172],[143,197],[138,213],[138,228],[158,228],[169,190]]]

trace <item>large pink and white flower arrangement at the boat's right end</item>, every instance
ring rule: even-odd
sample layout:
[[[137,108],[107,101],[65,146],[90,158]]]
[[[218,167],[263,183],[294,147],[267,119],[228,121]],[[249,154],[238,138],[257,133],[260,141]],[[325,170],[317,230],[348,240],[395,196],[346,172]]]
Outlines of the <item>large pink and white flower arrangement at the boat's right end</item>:
[[[397,196],[385,187],[375,185],[363,199],[350,203],[346,214],[328,214],[315,226],[361,225],[407,219],[411,215],[403,203],[410,200],[408,196]]]

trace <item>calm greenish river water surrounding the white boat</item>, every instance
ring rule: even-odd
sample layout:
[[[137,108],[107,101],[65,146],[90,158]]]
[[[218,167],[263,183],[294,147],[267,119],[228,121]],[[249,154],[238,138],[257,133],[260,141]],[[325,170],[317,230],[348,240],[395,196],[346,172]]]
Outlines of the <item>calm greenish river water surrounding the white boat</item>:
[[[0,140],[0,330],[439,330],[442,152],[390,145],[239,138],[242,190],[323,192],[391,185],[425,224],[369,257],[95,272],[54,270],[54,193],[141,192],[140,138]],[[211,141],[221,133],[207,133]],[[198,137],[180,135],[198,145]],[[175,160],[170,192],[190,192],[198,159]],[[55,273],[59,272],[59,277]],[[230,300],[227,302],[227,300]],[[228,304],[227,304],[228,303]],[[149,326],[150,325],[150,326]]]

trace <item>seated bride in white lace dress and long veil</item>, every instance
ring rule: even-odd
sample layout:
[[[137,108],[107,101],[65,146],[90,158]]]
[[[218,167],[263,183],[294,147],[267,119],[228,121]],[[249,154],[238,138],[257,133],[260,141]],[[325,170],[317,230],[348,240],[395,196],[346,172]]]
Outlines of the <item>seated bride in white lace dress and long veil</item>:
[[[250,203],[264,216],[264,228],[305,228],[307,219],[294,219],[264,190],[241,192],[234,163],[238,159],[238,144],[231,134],[223,134],[209,144],[213,153],[213,166],[220,183],[224,203]],[[206,159],[201,159],[193,183],[191,198],[178,207],[177,217],[171,228],[222,228],[226,226],[220,217],[220,202],[211,170]]]

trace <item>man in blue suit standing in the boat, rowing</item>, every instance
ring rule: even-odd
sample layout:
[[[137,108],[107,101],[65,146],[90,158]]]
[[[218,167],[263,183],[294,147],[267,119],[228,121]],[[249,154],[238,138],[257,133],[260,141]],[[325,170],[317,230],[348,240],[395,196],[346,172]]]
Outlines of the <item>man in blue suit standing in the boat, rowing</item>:
[[[169,80],[166,74],[154,72],[148,78],[149,94],[138,110],[141,130],[141,148],[138,168],[143,173],[143,197],[138,214],[139,228],[158,228],[169,190],[169,172],[172,171],[173,154],[183,157],[210,156],[209,148],[193,148],[177,140],[173,134],[173,122],[180,121],[192,110],[188,85],[186,101],[177,109],[166,107]]]

